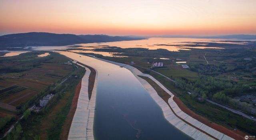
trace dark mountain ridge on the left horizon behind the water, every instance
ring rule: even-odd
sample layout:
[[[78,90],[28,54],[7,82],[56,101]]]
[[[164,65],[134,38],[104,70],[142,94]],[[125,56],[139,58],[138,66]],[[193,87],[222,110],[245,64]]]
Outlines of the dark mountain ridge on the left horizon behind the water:
[[[62,46],[69,44],[141,40],[143,37],[53,34],[47,32],[28,32],[0,36],[0,48],[24,46]]]

